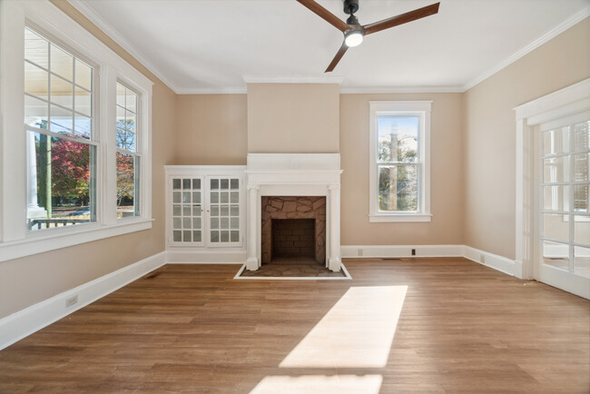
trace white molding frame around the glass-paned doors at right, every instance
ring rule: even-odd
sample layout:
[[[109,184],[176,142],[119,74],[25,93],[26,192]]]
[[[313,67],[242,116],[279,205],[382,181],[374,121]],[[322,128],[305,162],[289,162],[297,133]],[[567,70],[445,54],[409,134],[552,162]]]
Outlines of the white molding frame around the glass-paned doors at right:
[[[534,133],[541,123],[590,110],[590,78],[517,106],[515,276],[537,279]]]

